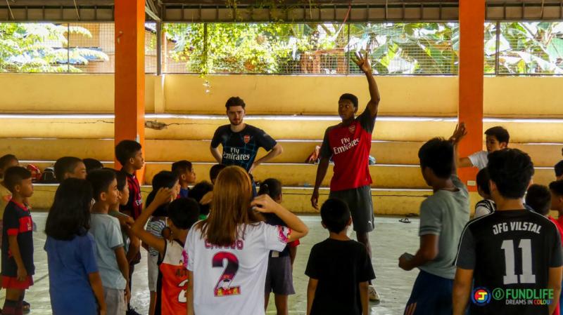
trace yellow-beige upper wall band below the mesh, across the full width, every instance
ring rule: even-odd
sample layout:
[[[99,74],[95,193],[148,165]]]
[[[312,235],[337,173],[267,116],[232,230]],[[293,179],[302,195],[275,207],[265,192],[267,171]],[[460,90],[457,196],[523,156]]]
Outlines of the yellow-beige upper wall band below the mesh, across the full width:
[[[341,93],[368,98],[363,76],[207,76],[168,74],[158,91],[156,76],[146,76],[146,110],[183,114],[223,114],[224,102],[239,95],[248,114],[336,114]],[[157,80],[157,81],[160,81]],[[381,115],[455,116],[456,76],[381,76]],[[485,116],[563,117],[557,77],[485,78]],[[156,91],[156,93],[155,93]],[[0,74],[0,112],[113,112],[112,74]]]

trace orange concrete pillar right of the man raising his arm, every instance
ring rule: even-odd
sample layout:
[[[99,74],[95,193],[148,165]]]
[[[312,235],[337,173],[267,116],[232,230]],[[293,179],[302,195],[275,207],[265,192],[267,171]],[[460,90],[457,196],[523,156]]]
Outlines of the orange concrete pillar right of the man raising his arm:
[[[460,99],[458,119],[467,126],[460,156],[483,149],[483,65],[485,0],[460,0]],[[460,177],[476,191],[476,168],[460,168]]]

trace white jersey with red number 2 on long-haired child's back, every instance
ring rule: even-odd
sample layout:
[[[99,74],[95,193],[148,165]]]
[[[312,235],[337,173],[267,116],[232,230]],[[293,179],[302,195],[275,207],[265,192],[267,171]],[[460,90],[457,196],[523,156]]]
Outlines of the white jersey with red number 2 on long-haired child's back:
[[[197,315],[263,315],[264,286],[270,250],[284,250],[288,227],[258,222],[239,226],[232,246],[218,247],[189,230],[184,250],[187,269],[194,273],[194,311]]]

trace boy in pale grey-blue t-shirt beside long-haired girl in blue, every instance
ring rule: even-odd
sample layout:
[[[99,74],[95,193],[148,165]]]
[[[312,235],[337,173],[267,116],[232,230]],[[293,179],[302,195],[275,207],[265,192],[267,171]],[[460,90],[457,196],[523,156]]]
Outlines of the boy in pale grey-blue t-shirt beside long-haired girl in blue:
[[[108,314],[125,315],[129,291],[129,264],[123,248],[119,220],[108,215],[119,203],[118,181],[112,170],[94,170],[87,180],[94,192],[90,233],[96,240],[96,262],[100,269],[103,297]],[[125,294],[124,294],[125,292]]]

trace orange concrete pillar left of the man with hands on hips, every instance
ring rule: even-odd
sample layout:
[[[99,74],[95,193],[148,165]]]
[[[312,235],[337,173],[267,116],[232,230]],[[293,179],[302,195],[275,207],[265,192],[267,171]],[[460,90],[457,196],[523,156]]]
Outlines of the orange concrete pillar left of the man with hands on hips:
[[[144,150],[145,1],[115,1],[115,144],[136,140]],[[116,168],[119,167],[115,161]],[[144,169],[137,172],[144,182]]]

